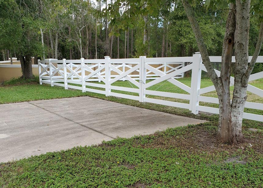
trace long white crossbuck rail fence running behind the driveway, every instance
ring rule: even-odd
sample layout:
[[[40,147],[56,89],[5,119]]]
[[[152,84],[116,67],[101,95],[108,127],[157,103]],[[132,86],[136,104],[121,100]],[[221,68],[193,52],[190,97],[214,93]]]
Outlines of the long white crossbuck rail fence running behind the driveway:
[[[249,61],[252,57],[249,57]],[[211,62],[221,62],[221,57],[211,56]],[[235,57],[232,57],[232,62],[235,62]],[[263,56],[257,58],[257,62],[263,63]],[[199,101],[218,104],[218,98],[201,96],[201,94],[214,91],[215,87],[210,86],[200,89],[202,70],[206,71],[202,64],[200,53],[194,54],[192,57],[161,57],[161,58],[140,58],[131,59],[111,59],[106,56],[105,59],[93,60],[56,60],[48,59],[39,61],[39,83],[47,83],[51,86],[57,85],[65,87],[65,89],[73,88],[82,90],[82,92],[94,92],[105,94],[106,96],[115,96],[120,98],[128,98],[140,102],[150,102],[161,105],[168,105],[189,109],[192,113],[197,114],[198,111],[219,113],[218,108],[212,108],[199,105]],[[192,70],[191,87],[176,80],[182,78],[184,72]],[[220,76],[220,71],[217,71]],[[259,72],[250,76],[249,81],[263,78],[263,72]],[[146,80],[152,79],[150,82]],[[135,87],[120,87],[113,86],[116,81],[128,80],[129,83]],[[92,81],[92,82],[91,82]],[[98,83],[94,83],[97,81]],[[149,90],[149,87],[155,84],[168,81],[175,86],[186,91],[188,94],[179,94],[171,92],[163,92],[156,90]],[[102,84],[103,82],[105,84]],[[81,86],[70,85],[78,84]],[[231,77],[231,86],[234,85],[234,78]],[[87,88],[97,87],[99,89]],[[139,94],[139,96],[120,94],[112,90],[127,91]],[[248,85],[248,91],[263,97],[263,90]],[[146,97],[149,95],[177,98],[189,100],[189,103],[166,101]],[[246,102],[245,108],[263,110],[263,104]],[[250,120],[263,121],[263,115],[244,113],[243,118]]]

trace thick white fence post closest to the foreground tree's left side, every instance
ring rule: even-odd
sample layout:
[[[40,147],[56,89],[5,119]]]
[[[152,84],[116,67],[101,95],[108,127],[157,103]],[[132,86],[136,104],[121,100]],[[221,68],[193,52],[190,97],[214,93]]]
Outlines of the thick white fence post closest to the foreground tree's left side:
[[[193,69],[192,69],[192,78],[191,78],[191,97],[190,97],[190,108],[193,114],[198,114],[197,106],[199,105],[198,101],[198,90],[200,89],[201,84],[201,73],[202,70],[199,68],[200,63],[202,62],[200,52],[195,52],[193,55]]]

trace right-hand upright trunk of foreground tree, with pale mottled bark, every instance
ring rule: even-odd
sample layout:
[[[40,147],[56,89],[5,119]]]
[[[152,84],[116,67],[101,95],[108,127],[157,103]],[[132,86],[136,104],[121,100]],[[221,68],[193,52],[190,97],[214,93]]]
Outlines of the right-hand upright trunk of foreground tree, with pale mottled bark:
[[[243,3],[236,1],[235,29],[235,85],[231,105],[230,142],[243,142],[242,120],[246,102],[247,83],[242,84],[242,78],[248,68],[248,41],[250,27],[250,0]]]

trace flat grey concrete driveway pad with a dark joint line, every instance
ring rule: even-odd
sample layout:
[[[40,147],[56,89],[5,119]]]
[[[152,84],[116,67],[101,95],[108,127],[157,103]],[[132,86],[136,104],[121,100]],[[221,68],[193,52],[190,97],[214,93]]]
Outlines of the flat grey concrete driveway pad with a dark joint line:
[[[205,122],[91,97],[0,105],[0,162]]]

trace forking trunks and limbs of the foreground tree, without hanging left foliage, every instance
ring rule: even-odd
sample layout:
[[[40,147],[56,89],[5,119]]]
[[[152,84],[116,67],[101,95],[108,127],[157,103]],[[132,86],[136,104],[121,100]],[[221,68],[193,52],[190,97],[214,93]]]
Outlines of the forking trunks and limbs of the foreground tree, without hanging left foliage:
[[[226,22],[226,32],[223,41],[222,66],[220,77],[217,76],[209,60],[209,55],[202,37],[198,22],[195,19],[194,11],[187,0],[182,0],[187,17],[194,31],[195,38],[200,50],[203,63],[212,80],[219,99],[219,127],[217,137],[220,141],[237,144],[244,142],[242,135],[242,119],[246,102],[246,90],[249,76],[254,68],[258,54],[263,42],[263,20],[262,4],[250,4],[250,0],[231,2]],[[215,2],[210,2],[215,6]],[[261,10],[257,6],[261,5]],[[222,4],[228,8],[228,4]],[[250,6],[259,17],[260,33],[253,58],[248,64],[248,44],[250,28]],[[230,100],[230,74],[232,53],[235,48],[235,83],[232,102]]]

